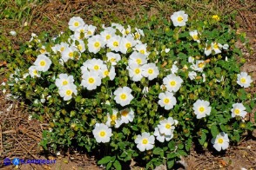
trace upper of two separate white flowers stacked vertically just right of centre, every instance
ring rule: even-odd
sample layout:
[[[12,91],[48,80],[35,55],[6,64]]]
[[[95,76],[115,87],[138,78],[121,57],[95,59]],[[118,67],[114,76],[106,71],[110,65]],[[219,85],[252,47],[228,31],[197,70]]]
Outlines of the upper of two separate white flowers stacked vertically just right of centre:
[[[168,91],[177,92],[181,87],[181,83],[183,82],[183,80],[179,76],[171,74],[171,75],[167,75],[163,79],[163,82]]]

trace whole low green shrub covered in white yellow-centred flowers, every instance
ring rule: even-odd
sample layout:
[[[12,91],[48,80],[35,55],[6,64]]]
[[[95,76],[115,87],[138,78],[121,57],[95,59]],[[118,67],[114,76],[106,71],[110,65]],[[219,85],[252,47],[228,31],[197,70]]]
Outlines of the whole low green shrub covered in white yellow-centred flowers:
[[[220,21],[178,11],[96,27],[74,16],[58,36],[32,34],[2,87],[47,117],[44,149],[83,148],[106,169],[172,168],[193,143],[225,150],[255,127],[234,45],[245,37]]]

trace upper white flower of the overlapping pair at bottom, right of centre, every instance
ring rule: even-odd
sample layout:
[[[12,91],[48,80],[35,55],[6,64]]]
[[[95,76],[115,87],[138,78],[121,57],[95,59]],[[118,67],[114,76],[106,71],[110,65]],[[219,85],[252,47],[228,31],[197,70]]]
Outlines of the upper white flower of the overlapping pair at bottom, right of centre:
[[[172,119],[172,117],[159,121],[159,132],[165,135],[173,135],[173,130],[175,129],[174,125],[175,121]]]

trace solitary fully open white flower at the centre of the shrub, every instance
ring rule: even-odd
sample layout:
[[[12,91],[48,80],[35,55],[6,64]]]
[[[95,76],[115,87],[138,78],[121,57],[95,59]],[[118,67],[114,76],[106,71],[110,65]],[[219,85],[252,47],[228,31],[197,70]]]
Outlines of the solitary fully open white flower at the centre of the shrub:
[[[130,104],[131,100],[134,98],[131,95],[131,88],[124,87],[124,88],[118,88],[114,92],[115,101],[120,104],[122,107]]]

